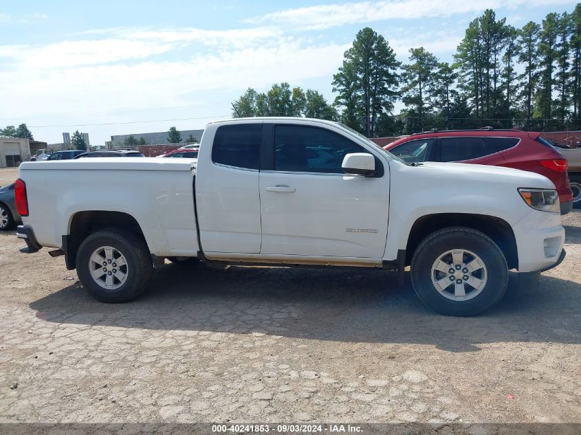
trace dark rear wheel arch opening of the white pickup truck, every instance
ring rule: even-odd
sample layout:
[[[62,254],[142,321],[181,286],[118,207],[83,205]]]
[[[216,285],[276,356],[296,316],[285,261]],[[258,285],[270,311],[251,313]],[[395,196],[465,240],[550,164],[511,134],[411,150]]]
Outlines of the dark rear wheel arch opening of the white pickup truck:
[[[105,228],[122,228],[140,236],[151,252],[151,247],[135,217],[129,213],[110,210],[85,210],[74,213],[68,225],[68,235],[63,235],[63,251],[67,269],[76,268],[78,247],[89,236]]]

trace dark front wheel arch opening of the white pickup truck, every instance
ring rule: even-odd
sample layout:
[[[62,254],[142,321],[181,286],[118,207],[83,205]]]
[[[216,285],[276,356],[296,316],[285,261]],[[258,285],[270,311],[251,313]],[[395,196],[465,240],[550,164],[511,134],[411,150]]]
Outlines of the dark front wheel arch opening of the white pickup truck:
[[[406,265],[421,241],[429,234],[446,227],[468,227],[486,234],[505,255],[509,269],[518,267],[518,251],[512,227],[504,219],[485,214],[437,213],[421,216],[412,225],[406,245]]]

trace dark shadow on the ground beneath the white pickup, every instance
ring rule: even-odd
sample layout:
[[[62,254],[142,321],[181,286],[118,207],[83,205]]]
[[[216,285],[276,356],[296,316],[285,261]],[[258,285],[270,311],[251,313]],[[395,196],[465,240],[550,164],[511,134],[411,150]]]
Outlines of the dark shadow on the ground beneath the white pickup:
[[[433,313],[406,279],[363,269],[164,265],[144,293],[103,304],[78,284],[30,304],[64,324],[153,330],[264,333],[340,342],[433,344],[453,352],[498,342],[581,343],[581,286],[542,276],[538,289],[505,298],[478,317]]]

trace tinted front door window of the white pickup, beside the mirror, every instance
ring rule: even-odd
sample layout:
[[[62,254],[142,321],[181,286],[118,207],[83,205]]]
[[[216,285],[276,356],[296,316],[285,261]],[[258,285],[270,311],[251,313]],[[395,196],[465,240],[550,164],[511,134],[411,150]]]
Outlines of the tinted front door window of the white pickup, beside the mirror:
[[[274,128],[274,170],[342,174],[343,157],[367,153],[331,131],[295,125]]]

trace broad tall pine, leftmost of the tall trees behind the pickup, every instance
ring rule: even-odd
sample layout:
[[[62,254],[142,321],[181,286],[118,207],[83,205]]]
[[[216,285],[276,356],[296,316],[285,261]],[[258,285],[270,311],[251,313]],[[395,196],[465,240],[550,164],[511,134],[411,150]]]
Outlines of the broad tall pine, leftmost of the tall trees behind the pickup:
[[[385,38],[370,27],[360,30],[353,45],[344,53],[342,67],[333,75],[333,92],[338,92],[336,104],[344,108],[353,128],[368,137],[374,134],[378,118],[393,111],[399,85],[393,49]],[[362,108],[363,119],[356,120]],[[359,113],[358,113],[359,112]]]

